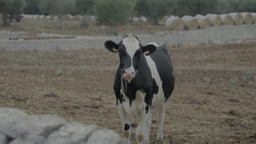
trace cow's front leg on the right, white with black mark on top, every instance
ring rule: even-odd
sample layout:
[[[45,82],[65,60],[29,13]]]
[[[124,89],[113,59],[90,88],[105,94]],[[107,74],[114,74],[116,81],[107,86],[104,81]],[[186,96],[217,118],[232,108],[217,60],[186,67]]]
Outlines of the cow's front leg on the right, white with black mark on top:
[[[138,121],[138,126],[135,131],[135,137],[137,139],[138,144],[142,144],[145,134],[145,128],[146,128],[146,121],[148,120],[148,117],[150,116],[149,107],[146,106],[146,108],[142,108],[140,113],[140,118]]]

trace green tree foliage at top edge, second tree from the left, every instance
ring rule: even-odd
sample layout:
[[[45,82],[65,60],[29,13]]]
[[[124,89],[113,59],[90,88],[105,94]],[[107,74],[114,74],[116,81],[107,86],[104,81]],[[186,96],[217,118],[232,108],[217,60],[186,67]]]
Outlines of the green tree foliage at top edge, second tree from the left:
[[[74,0],[41,0],[39,3],[41,13],[69,14],[75,11]]]

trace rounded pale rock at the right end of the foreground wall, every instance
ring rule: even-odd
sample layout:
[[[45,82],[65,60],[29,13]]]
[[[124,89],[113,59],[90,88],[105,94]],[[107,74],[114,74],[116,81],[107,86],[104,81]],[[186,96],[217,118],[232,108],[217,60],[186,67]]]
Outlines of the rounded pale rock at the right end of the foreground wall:
[[[99,137],[99,135],[101,137]],[[86,144],[123,144],[119,134],[109,129],[99,129],[94,131]]]

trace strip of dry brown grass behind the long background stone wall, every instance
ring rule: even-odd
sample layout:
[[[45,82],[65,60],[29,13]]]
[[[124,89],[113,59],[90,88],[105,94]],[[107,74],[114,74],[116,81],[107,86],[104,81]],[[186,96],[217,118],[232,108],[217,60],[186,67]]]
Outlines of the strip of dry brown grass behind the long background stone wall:
[[[106,35],[125,35],[127,33],[154,34],[158,31],[167,30],[164,26],[152,26],[149,24],[130,24],[128,26],[108,27],[90,26],[82,27],[79,21],[63,21],[63,28],[58,28],[58,22],[40,20],[21,20],[19,23],[12,23],[10,27],[1,27],[0,30],[27,31],[31,35],[40,33],[53,33],[62,35],[87,35],[87,36],[106,36]]]

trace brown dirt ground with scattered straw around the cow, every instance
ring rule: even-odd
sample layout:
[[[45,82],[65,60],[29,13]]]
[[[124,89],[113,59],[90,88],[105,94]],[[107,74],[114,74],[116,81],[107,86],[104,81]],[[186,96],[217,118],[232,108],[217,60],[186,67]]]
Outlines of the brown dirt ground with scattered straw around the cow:
[[[168,51],[176,85],[167,101],[164,142],[256,143],[255,43]],[[106,49],[0,52],[0,106],[57,114],[122,134],[112,89],[118,62]],[[158,130],[156,110],[153,115],[151,144]]]

